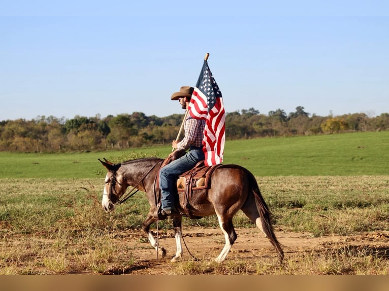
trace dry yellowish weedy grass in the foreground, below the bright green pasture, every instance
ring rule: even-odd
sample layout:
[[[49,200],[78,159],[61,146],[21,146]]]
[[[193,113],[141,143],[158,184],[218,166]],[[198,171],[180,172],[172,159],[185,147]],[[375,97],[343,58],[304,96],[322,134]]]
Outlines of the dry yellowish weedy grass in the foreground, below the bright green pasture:
[[[281,231],[312,236],[387,231],[389,177],[261,177],[262,194]],[[136,260],[120,233],[140,229],[148,211],[145,195],[135,195],[113,213],[101,207],[103,181],[95,179],[1,179],[0,274],[131,272]],[[17,187],[15,187],[17,185]],[[254,227],[243,212],[236,227]],[[218,228],[215,216],[183,219],[185,226]],[[171,223],[160,222],[161,235]],[[141,241],[145,238],[133,238]],[[224,238],[212,237],[224,243]],[[182,261],[169,274],[388,274],[389,250],[350,244],[288,254],[255,263],[229,257]]]

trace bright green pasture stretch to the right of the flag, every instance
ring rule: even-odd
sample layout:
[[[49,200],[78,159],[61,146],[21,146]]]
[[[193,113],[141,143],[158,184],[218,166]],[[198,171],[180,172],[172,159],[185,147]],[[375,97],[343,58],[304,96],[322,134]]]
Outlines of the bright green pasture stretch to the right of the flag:
[[[224,152],[256,176],[389,173],[389,131],[229,141]]]

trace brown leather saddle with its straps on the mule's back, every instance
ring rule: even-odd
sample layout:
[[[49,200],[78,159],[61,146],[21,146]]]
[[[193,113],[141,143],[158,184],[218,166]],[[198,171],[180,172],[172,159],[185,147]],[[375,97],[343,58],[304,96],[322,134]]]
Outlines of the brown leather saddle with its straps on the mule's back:
[[[168,158],[166,158],[164,160],[164,162],[161,164],[160,168],[162,168],[165,165],[171,163],[172,161],[182,157],[183,155],[185,155],[185,151],[183,151],[183,150],[175,151],[173,155],[169,156]],[[210,184],[211,184],[210,177],[211,177],[213,171],[220,166],[222,166],[222,164],[213,165],[213,166],[208,167],[208,166],[205,166],[204,161],[200,161],[199,163],[197,163],[195,165],[195,167],[193,167],[192,169],[190,169],[190,170],[188,170],[188,171],[186,171],[178,176],[178,179],[177,179],[178,196],[183,196],[183,203],[182,203],[182,205],[180,205],[181,206],[180,208],[182,208],[180,210],[183,211],[183,213],[180,211],[181,214],[188,216],[191,219],[202,218],[202,216],[196,216],[196,215],[193,215],[191,213],[190,202],[192,200],[193,191],[209,189]],[[159,170],[158,170],[158,173],[159,173]],[[159,181],[159,174],[157,175],[157,179],[155,181],[156,185],[159,185],[158,181]],[[158,198],[156,198],[156,202],[158,202],[158,204],[159,204],[160,203],[160,189],[158,186],[156,186],[154,189],[155,189],[155,197],[158,196]],[[158,193],[158,195],[157,195],[157,193]],[[176,199],[176,203],[180,204],[178,202],[180,200],[181,199]],[[159,208],[159,207],[157,206],[157,208]],[[158,209],[157,209],[157,211],[158,211]]]

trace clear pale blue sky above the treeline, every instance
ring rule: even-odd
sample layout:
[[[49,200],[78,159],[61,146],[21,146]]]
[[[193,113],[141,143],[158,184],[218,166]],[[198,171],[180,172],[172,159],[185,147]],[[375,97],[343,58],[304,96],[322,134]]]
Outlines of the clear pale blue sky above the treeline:
[[[0,7],[0,121],[182,114],[170,97],[196,85],[206,53],[227,113],[389,113],[386,0]]]

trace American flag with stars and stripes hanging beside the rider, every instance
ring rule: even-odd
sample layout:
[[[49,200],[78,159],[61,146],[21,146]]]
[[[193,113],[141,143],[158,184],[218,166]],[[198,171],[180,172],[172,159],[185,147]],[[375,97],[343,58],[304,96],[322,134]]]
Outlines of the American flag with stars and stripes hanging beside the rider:
[[[190,99],[189,114],[192,118],[206,120],[203,139],[205,165],[220,164],[224,153],[225,112],[221,92],[206,60]]]

